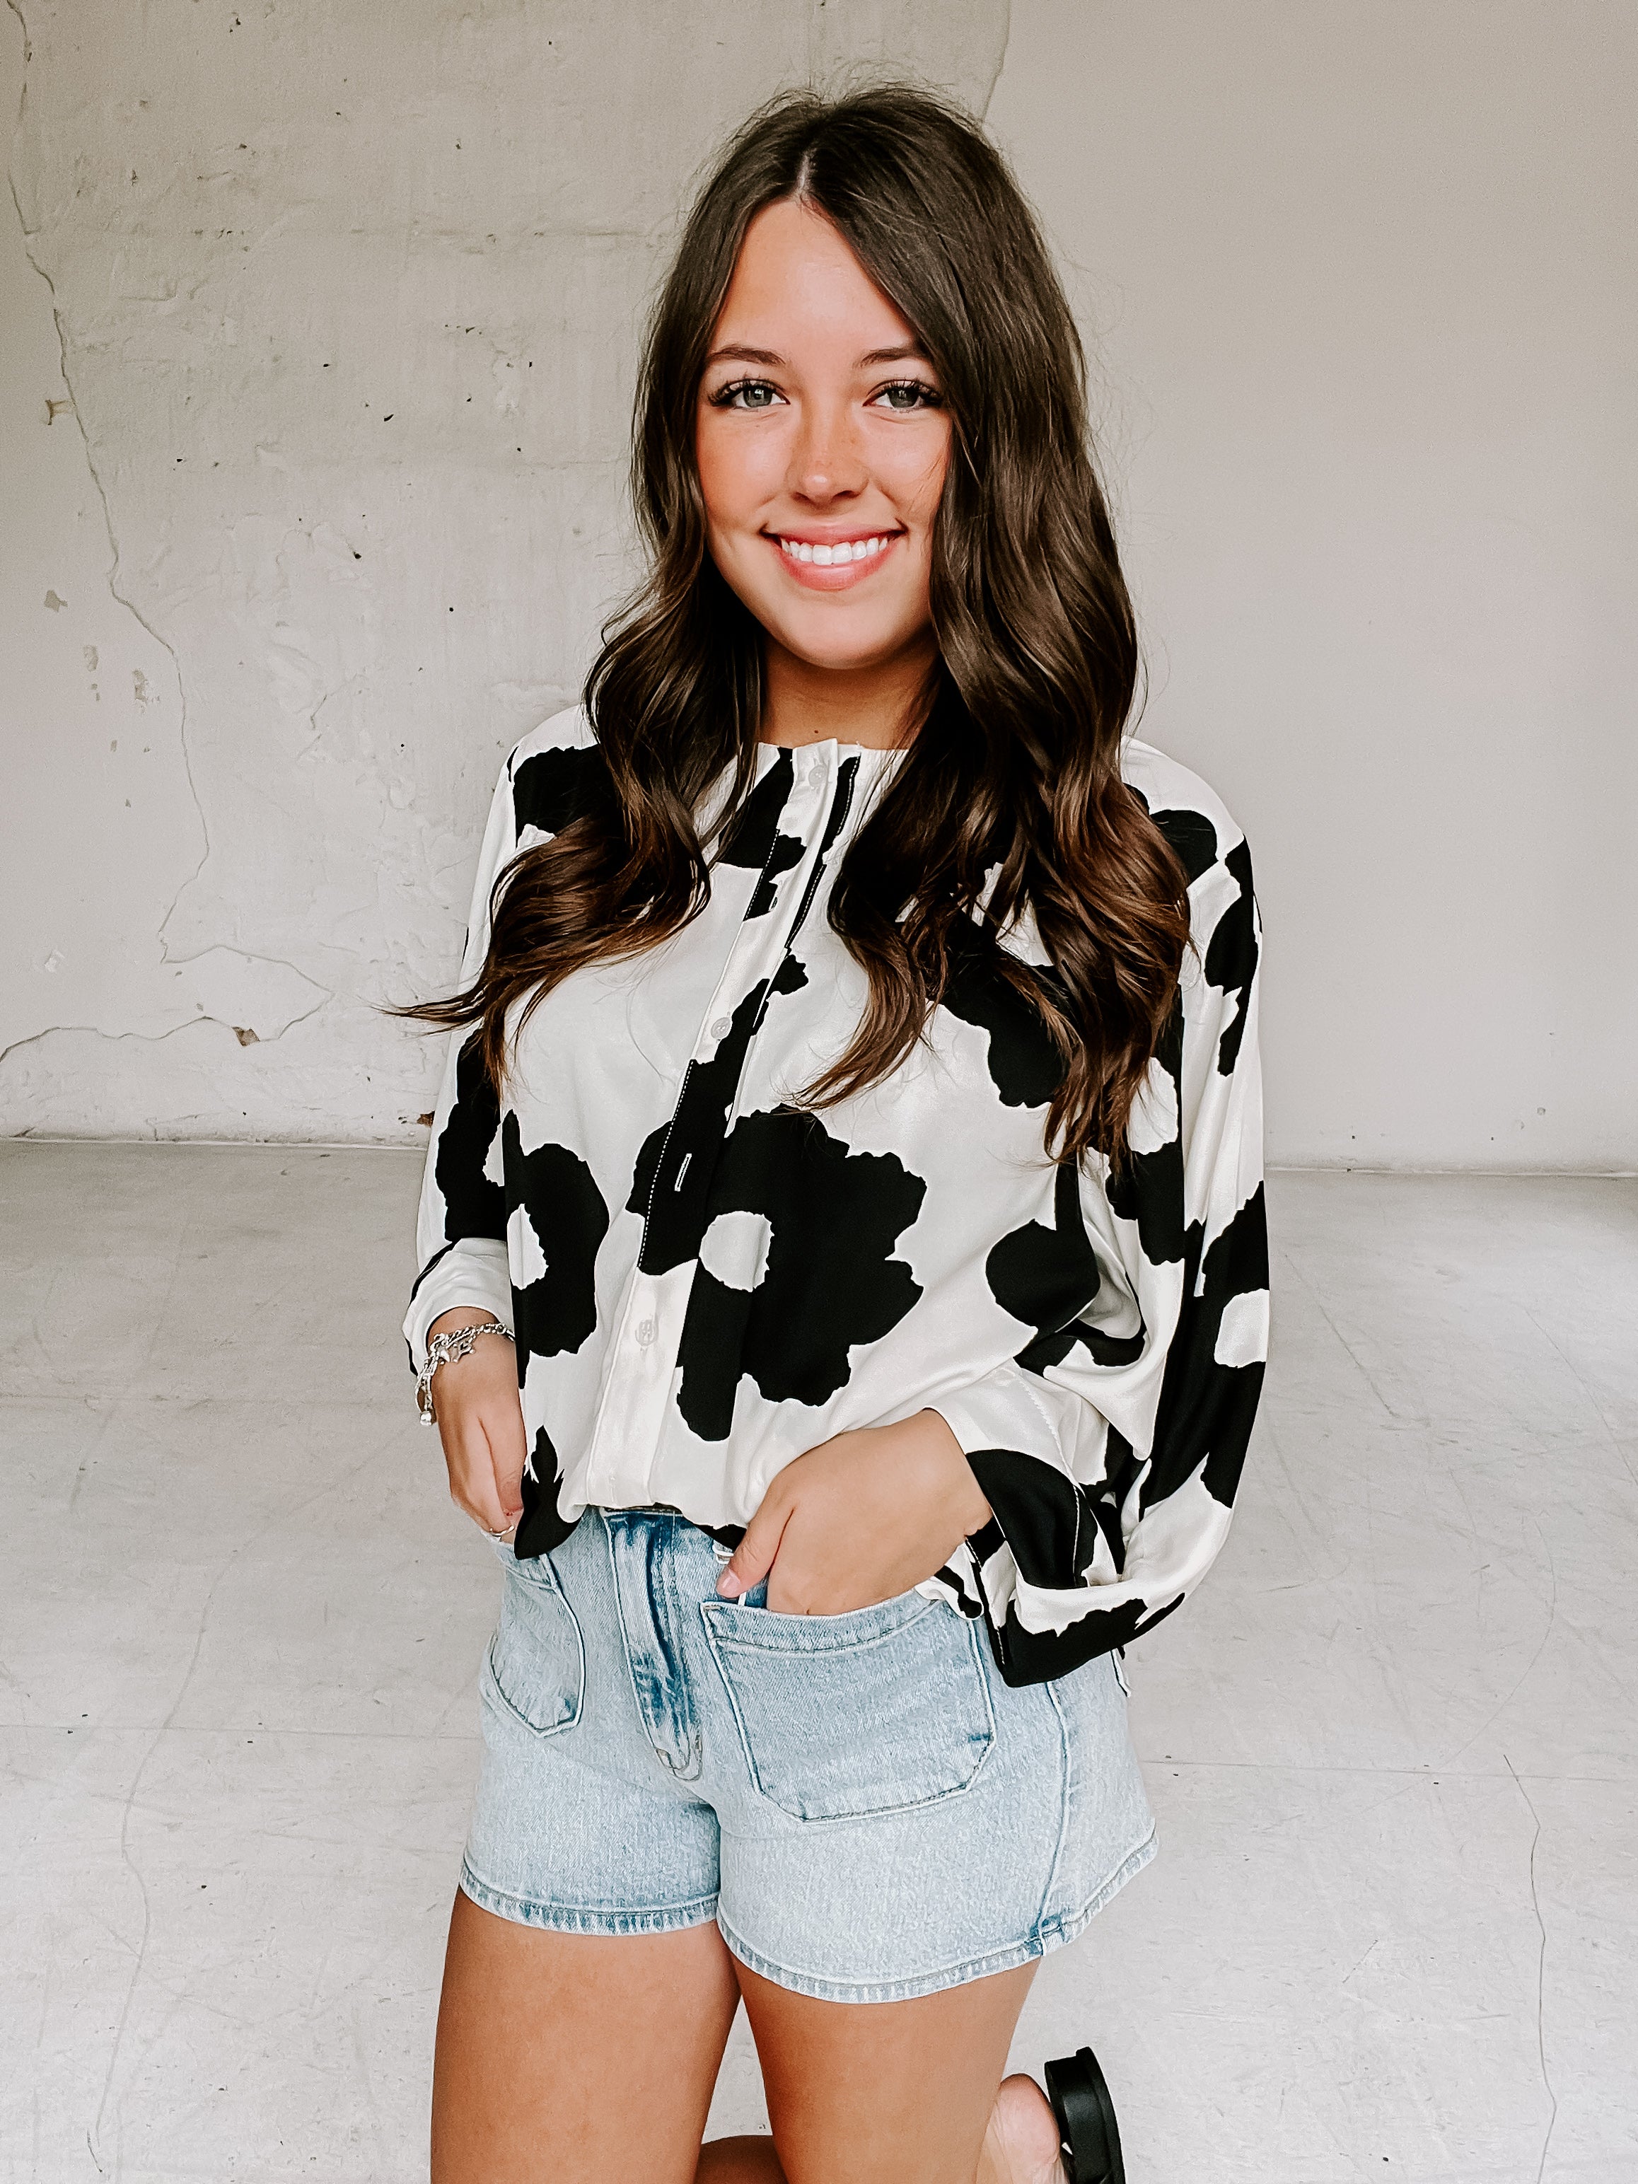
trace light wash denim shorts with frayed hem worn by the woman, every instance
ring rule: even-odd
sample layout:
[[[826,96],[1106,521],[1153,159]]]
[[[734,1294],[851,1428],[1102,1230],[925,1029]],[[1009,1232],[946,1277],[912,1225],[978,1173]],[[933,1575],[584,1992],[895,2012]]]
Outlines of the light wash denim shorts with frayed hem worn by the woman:
[[[1009,1690],[983,1625],[919,1592],[721,1601],[727,1551],[655,1509],[502,1555],[461,1870],[485,1911],[716,1920],[782,1987],[891,2003],[1072,1942],[1155,1854],[1114,1655]]]

